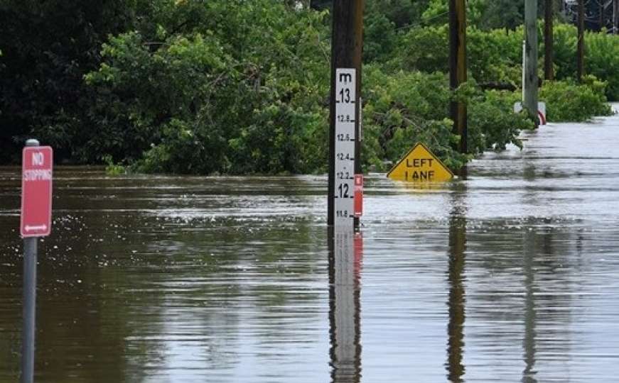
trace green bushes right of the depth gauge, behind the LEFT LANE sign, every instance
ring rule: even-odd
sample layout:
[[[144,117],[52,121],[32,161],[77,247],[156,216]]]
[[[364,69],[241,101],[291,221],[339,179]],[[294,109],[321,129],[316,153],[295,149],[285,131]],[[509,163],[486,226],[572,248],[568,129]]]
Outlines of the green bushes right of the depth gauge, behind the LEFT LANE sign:
[[[503,150],[509,144],[522,147],[520,131],[534,127],[524,114],[512,112],[514,92],[483,92],[475,82],[468,82],[452,94],[445,74],[385,74],[377,67],[366,67],[365,81],[371,89],[363,119],[365,166],[386,170],[382,159],[396,162],[419,142],[448,167],[464,165],[470,156],[454,150],[460,138],[447,118],[451,100],[468,104],[470,155]]]

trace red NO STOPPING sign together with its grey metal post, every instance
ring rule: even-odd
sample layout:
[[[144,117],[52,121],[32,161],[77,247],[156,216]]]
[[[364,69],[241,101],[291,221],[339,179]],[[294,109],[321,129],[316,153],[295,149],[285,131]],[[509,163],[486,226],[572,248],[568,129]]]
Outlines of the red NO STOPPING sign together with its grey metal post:
[[[23,238],[23,330],[21,382],[34,381],[34,345],[36,319],[37,239],[50,234],[53,151],[39,146],[38,140],[26,141],[21,174],[21,224]]]

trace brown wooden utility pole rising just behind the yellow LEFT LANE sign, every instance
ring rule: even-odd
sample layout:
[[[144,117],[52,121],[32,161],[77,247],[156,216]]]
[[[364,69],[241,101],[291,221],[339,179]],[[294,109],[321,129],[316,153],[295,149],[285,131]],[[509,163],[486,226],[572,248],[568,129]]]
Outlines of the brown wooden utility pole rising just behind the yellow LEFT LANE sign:
[[[466,8],[464,0],[449,0],[449,87],[466,82]],[[458,150],[468,152],[466,105],[451,101],[453,133],[460,135]]]

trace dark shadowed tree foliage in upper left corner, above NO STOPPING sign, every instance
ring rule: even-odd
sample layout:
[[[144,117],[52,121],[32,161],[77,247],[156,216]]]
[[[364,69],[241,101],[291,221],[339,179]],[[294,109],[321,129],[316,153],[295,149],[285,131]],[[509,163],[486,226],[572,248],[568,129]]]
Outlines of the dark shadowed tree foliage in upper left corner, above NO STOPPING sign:
[[[124,0],[0,1],[0,162],[36,136],[70,155],[83,131],[85,72],[99,64],[109,33],[131,26]]]

